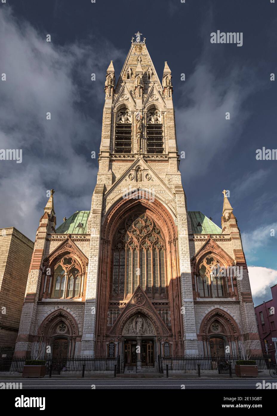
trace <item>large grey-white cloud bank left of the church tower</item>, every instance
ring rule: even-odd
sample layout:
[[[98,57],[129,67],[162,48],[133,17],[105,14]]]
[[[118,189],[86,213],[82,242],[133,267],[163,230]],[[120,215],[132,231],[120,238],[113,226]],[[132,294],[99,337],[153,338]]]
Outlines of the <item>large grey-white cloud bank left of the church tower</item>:
[[[0,227],[15,225],[34,239],[51,188],[57,225],[64,215],[90,209],[105,73],[109,59],[123,59],[104,39],[101,48],[98,43],[46,42],[28,22],[19,26],[9,7],[0,10],[1,73],[7,76],[0,82],[0,149],[22,149],[22,163],[0,161]]]

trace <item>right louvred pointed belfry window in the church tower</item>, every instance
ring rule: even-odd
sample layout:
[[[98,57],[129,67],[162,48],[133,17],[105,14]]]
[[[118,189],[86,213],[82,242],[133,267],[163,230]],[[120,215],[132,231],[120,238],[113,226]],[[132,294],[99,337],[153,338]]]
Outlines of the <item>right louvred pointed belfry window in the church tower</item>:
[[[153,108],[146,116],[147,153],[163,153],[163,122],[161,112]]]

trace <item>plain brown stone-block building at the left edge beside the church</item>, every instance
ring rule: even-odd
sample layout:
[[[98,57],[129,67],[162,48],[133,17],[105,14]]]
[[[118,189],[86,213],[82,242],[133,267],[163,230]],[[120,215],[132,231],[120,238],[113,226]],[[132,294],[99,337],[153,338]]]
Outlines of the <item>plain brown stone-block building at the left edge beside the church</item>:
[[[0,229],[0,346],[3,347],[15,346],[33,250],[34,243],[16,228]]]

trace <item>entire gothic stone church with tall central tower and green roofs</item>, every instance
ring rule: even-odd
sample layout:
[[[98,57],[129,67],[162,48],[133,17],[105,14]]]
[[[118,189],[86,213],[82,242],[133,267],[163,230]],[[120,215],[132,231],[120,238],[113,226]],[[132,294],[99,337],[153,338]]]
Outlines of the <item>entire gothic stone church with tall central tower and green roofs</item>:
[[[120,355],[139,368],[158,354],[240,354],[245,338],[261,352],[233,208],[224,191],[221,227],[187,210],[171,71],[160,82],[140,35],[117,83],[107,69],[91,210],[56,228],[53,191],[44,208],[18,356]]]

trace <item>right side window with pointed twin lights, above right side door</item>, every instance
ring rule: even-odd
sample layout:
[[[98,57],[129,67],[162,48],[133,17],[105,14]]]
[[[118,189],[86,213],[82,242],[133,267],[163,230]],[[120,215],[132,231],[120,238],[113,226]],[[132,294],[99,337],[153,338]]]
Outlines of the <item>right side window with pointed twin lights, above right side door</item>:
[[[219,260],[213,255],[204,258],[200,264],[197,279],[200,297],[226,297],[224,277],[221,277],[220,272],[217,272],[219,269]]]

